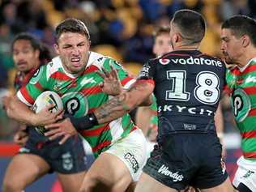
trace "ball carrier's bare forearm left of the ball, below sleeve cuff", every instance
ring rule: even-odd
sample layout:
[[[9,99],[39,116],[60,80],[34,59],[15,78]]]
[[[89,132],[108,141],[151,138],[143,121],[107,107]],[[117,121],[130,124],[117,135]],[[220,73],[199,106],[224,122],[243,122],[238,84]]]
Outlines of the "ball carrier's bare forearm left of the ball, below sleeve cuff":
[[[11,98],[9,105],[6,107],[6,113],[8,117],[18,122],[33,126],[35,113],[28,109],[28,106],[24,105],[16,96]]]

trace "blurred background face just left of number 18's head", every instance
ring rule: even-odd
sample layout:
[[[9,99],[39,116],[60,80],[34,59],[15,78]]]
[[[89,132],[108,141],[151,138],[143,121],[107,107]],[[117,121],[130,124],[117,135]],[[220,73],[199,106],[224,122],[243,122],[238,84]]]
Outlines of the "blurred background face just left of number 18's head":
[[[155,44],[153,46],[153,53],[156,54],[156,57],[160,57],[164,53],[169,53],[172,50],[173,48],[169,33],[164,32],[159,36],[156,36]]]

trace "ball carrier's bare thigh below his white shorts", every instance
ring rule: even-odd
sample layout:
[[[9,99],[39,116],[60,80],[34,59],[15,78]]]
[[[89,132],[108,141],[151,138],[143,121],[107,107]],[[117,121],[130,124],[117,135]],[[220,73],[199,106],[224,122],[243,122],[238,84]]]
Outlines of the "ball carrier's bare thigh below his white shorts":
[[[80,191],[125,191],[132,177],[126,164],[117,156],[102,153],[88,170]]]

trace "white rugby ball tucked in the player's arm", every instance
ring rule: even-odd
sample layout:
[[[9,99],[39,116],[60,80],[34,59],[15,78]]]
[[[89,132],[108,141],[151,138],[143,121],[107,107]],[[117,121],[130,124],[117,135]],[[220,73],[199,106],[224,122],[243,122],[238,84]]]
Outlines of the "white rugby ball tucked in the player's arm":
[[[49,109],[51,113],[56,113],[63,109],[62,98],[56,92],[46,91],[42,92],[41,95],[37,96],[34,105],[32,106],[32,110],[35,113],[39,113],[46,106],[53,104],[54,106]],[[36,131],[40,134],[45,133],[44,126],[36,126]]]

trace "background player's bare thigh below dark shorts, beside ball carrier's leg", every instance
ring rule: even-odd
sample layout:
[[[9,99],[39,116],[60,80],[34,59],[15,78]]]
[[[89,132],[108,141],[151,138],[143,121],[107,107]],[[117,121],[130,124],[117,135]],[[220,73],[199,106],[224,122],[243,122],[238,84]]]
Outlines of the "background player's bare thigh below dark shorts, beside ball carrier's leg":
[[[83,179],[85,177],[86,172],[80,173],[72,173],[72,174],[58,174],[58,181],[60,181],[62,185],[63,192],[69,191],[79,191],[82,186]]]

